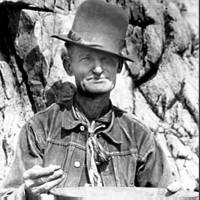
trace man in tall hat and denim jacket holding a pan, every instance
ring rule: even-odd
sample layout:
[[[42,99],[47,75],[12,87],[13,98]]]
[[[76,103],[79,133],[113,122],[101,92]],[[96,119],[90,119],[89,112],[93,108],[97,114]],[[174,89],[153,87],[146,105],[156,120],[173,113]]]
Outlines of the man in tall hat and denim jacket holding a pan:
[[[36,114],[19,135],[4,181],[7,196],[37,199],[54,187],[165,187],[171,174],[154,136],[133,115],[112,105],[110,92],[124,60],[128,18],[121,8],[87,0],[65,41],[66,72],[76,92]]]

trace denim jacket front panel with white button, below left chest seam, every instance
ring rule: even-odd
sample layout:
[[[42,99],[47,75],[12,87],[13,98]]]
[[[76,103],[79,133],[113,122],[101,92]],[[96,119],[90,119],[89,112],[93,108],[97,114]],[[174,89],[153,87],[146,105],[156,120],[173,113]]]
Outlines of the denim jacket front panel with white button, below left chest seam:
[[[76,187],[79,185],[85,161],[85,147],[75,142],[63,142],[47,139],[48,146],[44,156],[44,165],[60,165],[65,178],[59,187]]]

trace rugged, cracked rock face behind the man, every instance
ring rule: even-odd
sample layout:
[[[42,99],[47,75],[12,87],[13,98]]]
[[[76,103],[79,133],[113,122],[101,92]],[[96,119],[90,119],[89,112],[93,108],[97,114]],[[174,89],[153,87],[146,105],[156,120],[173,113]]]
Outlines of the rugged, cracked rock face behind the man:
[[[82,0],[0,0],[0,179],[16,135],[34,113],[71,95],[66,50],[52,34],[67,33]],[[198,59],[196,0],[110,0],[129,14],[112,101],[156,135],[184,189],[198,184]],[[117,20],[117,19],[116,19]]]

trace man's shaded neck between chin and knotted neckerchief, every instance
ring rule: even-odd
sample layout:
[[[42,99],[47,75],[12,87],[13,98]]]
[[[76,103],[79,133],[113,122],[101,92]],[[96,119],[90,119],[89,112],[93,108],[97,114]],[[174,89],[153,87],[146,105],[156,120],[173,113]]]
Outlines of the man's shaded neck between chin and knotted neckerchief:
[[[75,102],[89,121],[93,121],[106,114],[110,105],[110,92],[104,94],[88,94],[77,90]]]

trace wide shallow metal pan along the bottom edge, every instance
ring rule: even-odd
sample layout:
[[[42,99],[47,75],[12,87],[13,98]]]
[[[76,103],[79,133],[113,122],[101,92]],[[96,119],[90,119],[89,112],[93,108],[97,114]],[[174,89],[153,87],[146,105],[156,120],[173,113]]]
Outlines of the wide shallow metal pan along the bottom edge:
[[[199,193],[169,193],[162,188],[142,187],[76,187],[52,189],[56,200],[199,200]]]

